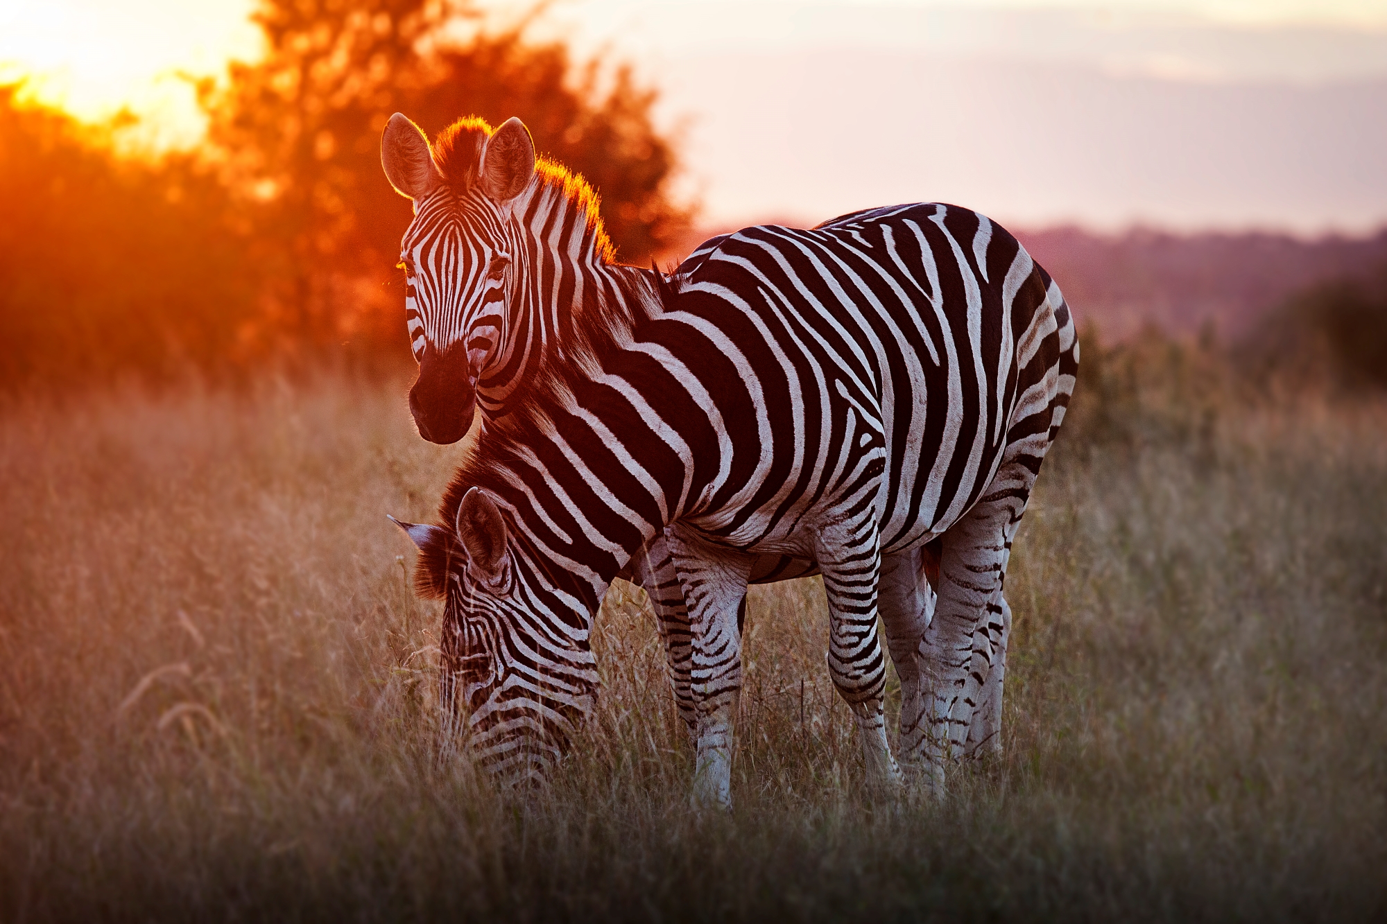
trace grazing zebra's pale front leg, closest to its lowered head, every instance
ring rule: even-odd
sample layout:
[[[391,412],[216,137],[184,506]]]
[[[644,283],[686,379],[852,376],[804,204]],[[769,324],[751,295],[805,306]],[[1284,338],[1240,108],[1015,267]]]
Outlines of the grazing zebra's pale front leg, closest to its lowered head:
[[[742,690],[739,615],[756,556],[712,545],[680,524],[666,537],[689,616],[689,696],[698,720],[694,799],[728,807],[732,715]]]

